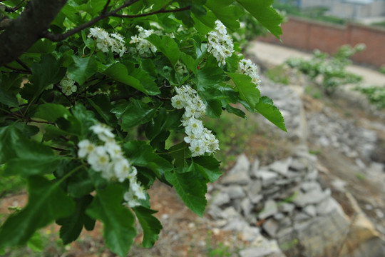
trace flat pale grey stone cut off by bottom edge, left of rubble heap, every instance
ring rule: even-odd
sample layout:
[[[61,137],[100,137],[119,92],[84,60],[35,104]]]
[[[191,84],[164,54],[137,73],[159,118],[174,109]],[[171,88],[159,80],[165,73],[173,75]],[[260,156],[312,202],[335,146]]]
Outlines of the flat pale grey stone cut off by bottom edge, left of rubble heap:
[[[264,241],[259,246],[252,246],[240,251],[240,257],[284,257],[275,240]]]

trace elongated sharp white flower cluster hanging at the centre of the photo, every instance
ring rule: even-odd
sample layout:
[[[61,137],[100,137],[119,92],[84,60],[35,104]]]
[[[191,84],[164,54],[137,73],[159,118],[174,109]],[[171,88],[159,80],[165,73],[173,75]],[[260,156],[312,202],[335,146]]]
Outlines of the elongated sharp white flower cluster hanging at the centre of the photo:
[[[185,127],[185,142],[190,143],[192,156],[201,156],[205,153],[214,153],[219,150],[219,141],[211,131],[203,126],[199,119],[205,115],[206,106],[197,91],[190,86],[181,86],[175,89],[177,94],[171,99],[176,109],[185,109],[182,124]]]

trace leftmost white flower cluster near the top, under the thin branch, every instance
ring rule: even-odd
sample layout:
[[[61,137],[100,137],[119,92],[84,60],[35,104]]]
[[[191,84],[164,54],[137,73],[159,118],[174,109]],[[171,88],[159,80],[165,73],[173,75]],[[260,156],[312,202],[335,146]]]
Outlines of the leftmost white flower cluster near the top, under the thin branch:
[[[88,37],[93,37],[96,39],[96,47],[101,49],[103,53],[106,53],[111,49],[111,51],[123,56],[127,49],[125,48],[125,41],[123,36],[118,33],[109,34],[107,31],[101,28],[91,28],[90,34]]]

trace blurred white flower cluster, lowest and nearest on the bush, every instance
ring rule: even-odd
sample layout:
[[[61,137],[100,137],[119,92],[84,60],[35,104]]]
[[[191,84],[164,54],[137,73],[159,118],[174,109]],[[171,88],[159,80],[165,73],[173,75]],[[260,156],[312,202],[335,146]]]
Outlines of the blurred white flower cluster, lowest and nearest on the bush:
[[[107,180],[117,179],[119,182],[128,179],[130,188],[124,194],[125,204],[128,207],[139,206],[138,200],[145,200],[145,189],[137,181],[138,171],[128,159],[123,156],[122,148],[115,141],[111,128],[104,124],[91,126],[91,131],[96,133],[103,145],[92,143],[84,139],[78,143],[78,156],[87,158],[87,162],[94,171],[101,172],[101,176]]]

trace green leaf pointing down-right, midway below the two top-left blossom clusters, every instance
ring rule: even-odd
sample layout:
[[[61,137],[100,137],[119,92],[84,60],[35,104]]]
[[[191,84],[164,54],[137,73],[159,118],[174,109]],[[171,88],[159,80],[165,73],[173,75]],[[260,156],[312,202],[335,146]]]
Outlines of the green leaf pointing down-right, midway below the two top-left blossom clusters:
[[[138,79],[135,79],[133,76],[128,75],[128,70],[124,64],[113,64],[103,74],[109,76],[111,79],[119,81],[128,86],[132,86],[134,89],[137,89],[144,94],[148,94],[147,90],[144,88]]]

